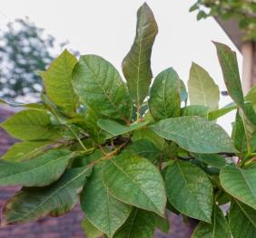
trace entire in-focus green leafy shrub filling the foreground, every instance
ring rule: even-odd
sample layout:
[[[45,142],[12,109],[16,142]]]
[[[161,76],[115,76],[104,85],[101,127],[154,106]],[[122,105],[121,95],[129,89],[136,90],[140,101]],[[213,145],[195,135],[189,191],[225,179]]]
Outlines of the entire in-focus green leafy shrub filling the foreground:
[[[26,109],[1,124],[22,141],[2,158],[0,185],[23,188],[5,204],[2,225],[65,214],[80,200],[92,238],[166,233],[168,210],[198,221],[194,238],[255,237],[255,87],[243,96],[235,53],[222,43],[215,46],[230,105],[218,108],[219,88],[196,63],[188,92],[172,68],[150,87],[156,33],[144,4],[123,61],[128,85],[103,58],[76,61],[64,51],[41,72],[43,103],[10,105]],[[230,138],[215,119],[234,109]]]

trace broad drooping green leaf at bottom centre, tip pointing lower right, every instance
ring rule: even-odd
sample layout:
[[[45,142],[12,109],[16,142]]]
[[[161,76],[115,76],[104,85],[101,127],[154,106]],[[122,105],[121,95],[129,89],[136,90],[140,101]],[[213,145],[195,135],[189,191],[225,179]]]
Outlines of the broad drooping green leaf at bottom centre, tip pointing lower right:
[[[103,164],[103,184],[123,203],[163,215],[166,196],[162,176],[153,164],[128,153]]]

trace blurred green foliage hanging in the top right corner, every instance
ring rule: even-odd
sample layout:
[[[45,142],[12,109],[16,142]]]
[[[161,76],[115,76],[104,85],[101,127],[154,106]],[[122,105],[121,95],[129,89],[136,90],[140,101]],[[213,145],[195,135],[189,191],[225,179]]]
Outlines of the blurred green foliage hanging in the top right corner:
[[[244,40],[256,41],[256,3],[253,0],[197,0],[190,11],[198,10],[197,19],[220,16],[222,20],[236,19],[246,35]]]

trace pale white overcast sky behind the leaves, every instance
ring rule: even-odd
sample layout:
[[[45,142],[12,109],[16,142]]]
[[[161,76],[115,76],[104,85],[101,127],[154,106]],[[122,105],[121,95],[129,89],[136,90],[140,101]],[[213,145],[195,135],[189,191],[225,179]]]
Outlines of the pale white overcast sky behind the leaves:
[[[68,49],[81,54],[94,53],[112,62],[121,71],[121,62],[133,43],[136,11],[143,5],[140,0],[8,0],[1,1],[0,29],[15,18],[28,16],[46,33],[59,42],[68,41]],[[153,76],[173,67],[185,83],[189,79],[192,62],[207,70],[220,90],[225,90],[222,71],[215,47],[211,41],[228,44],[241,54],[213,18],[197,21],[189,13],[192,0],[148,0],[159,27],[153,46]],[[59,52],[60,53],[60,52]],[[230,100],[222,97],[221,106]],[[233,113],[219,123],[231,131],[228,121]]]

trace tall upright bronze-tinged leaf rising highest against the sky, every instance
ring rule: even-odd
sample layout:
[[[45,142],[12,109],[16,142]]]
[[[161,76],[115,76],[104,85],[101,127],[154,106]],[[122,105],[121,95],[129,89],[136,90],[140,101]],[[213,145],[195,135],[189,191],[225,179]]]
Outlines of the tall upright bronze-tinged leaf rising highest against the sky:
[[[153,77],[151,53],[154,38],[158,32],[153,12],[143,4],[137,13],[136,36],[133,46],[123,59],[123,75],[127,81],[129,93],[137,108],[140,109]]]

